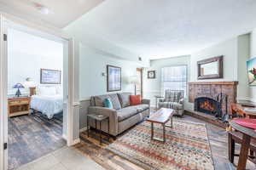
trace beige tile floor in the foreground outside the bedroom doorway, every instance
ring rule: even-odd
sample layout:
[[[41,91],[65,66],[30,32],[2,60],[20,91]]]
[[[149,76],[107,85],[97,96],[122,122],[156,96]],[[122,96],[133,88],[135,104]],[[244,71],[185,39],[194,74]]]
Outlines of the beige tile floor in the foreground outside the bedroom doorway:
[[[88,156],[84,156],[72,147],[59,150],[40,157],[17,170],[102,170],[104,169]]]

